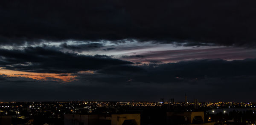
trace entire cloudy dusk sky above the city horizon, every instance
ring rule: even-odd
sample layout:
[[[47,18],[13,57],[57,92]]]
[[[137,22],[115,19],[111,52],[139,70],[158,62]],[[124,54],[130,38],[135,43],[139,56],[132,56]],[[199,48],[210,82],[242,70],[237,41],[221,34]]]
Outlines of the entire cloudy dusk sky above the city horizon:
[[[256,102],[255,0],[3,0],[0,102]]]

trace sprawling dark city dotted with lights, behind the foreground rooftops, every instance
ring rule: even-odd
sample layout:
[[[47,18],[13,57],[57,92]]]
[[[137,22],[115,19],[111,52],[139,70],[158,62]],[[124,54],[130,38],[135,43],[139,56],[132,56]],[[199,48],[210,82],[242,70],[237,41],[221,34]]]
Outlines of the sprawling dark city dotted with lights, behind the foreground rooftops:
[[[198,108],[194,106],[194,102],[187,102],[186,107],[185,102],[0,102],[0,115],[2,119],[9,116],[12,125],[67,125],[64,123],[65,115],[140,114],[141,125],[157,125],[167,124],[170,112],[199,111],[203,113],[205,124],[256,123],[256,102],[198,102]],[[232,117],[234,113],[241,115],[239,119]],[[253,117],[245,117],[248,114]],[[157,115],[163,116],[161,122]],[[151,121],[146,120],[148,116]]]

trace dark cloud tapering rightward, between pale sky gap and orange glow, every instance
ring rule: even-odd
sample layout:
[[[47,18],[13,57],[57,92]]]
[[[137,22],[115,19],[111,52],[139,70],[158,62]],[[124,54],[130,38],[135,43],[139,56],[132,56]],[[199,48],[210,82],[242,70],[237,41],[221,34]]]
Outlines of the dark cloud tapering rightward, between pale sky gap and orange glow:
[[[86,56],[43,47],[27,47],[24,50],[0,49],[0,57],[0,67],[39,73],[75,73],[112,65],[133,64],[104,55]]]

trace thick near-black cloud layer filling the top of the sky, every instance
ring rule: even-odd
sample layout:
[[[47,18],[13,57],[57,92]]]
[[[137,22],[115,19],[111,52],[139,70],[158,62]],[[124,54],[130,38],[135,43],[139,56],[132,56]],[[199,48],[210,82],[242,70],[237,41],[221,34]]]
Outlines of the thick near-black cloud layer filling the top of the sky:
[[[3,1],[0,43],[137,39],[255,46],[255,4],[253,0]]]

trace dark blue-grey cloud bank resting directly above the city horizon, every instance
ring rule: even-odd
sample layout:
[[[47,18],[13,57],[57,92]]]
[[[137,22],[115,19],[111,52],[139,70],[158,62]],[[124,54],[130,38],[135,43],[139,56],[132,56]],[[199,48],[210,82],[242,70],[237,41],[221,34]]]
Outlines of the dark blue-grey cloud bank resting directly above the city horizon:
[[[6,95],[1,98],[4,101],[158,101],[171,96],[183,101],[187,93],[189,100],[251,102],[256,87],[255,62],[195,60],[157,66],[111,66],[62,84],[0,76],[0,94]],[[26,82],[20,84],[20,80]]]

